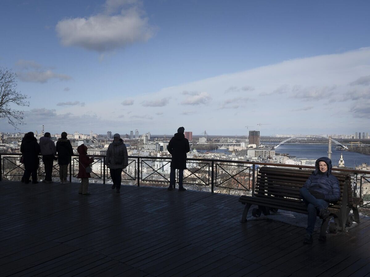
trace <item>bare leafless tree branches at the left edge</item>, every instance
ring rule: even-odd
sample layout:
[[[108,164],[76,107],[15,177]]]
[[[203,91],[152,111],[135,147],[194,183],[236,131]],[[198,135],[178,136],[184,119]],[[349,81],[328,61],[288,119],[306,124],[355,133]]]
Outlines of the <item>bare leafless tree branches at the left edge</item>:
[[[7,118],[14,128],[23,125],[23,111],[12,108],[13,105],[29,106],[27,95],[16,91],[17,75],[7,68],[0,67],[0,118]]]

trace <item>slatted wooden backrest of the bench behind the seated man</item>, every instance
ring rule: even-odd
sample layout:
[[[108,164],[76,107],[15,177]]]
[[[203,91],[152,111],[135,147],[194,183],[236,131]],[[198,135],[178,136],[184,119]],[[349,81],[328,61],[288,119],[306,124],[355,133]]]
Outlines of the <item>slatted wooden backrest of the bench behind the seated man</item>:
[[[283,198],[281,200],[284,202],[288,201],[296,204],[297,208],[306,209],[300,198],[299,189],[302,188],[312,172],[312,170],[261,167],[258,172],[254,195],[256,197],[273,197],[274,200],[280,197]],[[332,174],[339,180],[341,196],[336,203],[330,204],[330,207],[339,209],[343,200],[347,202],[347,199],[349,201],[352,199],[350,176],[348,173],[332,172]],[[344,186],[348,188],[348,196],[343,198]]]

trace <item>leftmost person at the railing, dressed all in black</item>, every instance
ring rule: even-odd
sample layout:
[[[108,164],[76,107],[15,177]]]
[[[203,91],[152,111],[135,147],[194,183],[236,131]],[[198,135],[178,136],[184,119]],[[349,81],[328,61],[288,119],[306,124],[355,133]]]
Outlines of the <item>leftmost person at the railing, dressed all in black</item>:
[[[32,183],[37,184],[38,154],[40,154],[40,145],[38,145],[33,132],[28,132],[24,136],[20,151],[23,154],[24,183],[28,184],[30,182],[30,176],[32,175]]]

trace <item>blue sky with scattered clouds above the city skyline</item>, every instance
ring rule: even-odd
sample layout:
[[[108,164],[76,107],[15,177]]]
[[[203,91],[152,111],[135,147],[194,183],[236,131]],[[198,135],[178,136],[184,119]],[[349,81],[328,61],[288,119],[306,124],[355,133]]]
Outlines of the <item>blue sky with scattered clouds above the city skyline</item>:
[[[29,97],[22,132],[370,132],[369,10],[367,0],[2,0],[0,67]],[[0,132],[15,130],[0,119]]]

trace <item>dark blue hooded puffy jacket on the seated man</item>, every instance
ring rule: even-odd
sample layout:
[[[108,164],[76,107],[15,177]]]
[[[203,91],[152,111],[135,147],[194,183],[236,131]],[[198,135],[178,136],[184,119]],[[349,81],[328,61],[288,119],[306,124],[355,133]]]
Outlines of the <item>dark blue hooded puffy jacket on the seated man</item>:
[[[327,172],[322,173],[319,169],[319,162],[325,162]],[[332,175],[332,161],[329,158],[322,157],[317,159],[315,171],[307,179],[306,189],[314,190],[324,195],[324,200],[328,202],[336,202],[340,197],[340,187],[338,179]]]

